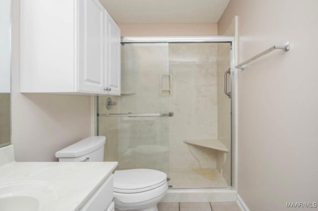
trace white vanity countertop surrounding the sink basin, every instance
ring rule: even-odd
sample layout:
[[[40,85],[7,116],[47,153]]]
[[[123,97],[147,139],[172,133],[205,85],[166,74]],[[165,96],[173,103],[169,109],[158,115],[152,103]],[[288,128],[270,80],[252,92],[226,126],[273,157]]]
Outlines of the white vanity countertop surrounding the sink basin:
[[[78,211],[116,166],[117,162],[12,161],[0,166],[0,185],[49,183],[56,189],[58,199],[43,211]]]

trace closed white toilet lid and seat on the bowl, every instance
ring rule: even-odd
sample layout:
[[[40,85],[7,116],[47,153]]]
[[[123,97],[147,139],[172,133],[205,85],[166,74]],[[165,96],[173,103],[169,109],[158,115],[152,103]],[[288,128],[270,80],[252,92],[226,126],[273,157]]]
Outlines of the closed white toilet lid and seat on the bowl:
[[[166,183],[167,175],[153,169],[118,170],[114,173],[114,192],[139,193]]]

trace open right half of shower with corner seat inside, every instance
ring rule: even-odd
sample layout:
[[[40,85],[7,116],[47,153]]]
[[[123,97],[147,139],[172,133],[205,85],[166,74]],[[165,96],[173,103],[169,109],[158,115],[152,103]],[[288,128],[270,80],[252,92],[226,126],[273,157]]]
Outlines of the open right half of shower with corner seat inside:
[[[231,186],[231,99],[224,93],[230,52],[230,43],[169,44],[173,188]],[[227,82],[230,90],[230,77]]]

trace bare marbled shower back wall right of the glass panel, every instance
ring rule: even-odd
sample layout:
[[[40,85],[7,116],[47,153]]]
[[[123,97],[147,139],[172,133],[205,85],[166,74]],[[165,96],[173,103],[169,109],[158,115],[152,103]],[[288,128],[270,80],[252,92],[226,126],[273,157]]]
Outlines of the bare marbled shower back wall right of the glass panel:
[[[169,72],[169,167],[199,168],[183,141],[217,138],[217,44],[169,44]]]

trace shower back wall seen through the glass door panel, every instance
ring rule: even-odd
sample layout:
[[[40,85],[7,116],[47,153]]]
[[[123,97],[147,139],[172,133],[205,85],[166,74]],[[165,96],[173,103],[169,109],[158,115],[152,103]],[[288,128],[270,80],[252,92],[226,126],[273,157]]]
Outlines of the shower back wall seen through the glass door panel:
[[[169,104],[161,95],[161,77],[168,73],[168,45],[126,44],[122,55],[121,112],[167,113]],[[120,127],[126,129],[118,140],[122,151],[119,167],[168,172],[168,121],[168,117],[120,118]]]

